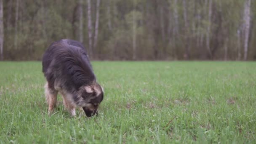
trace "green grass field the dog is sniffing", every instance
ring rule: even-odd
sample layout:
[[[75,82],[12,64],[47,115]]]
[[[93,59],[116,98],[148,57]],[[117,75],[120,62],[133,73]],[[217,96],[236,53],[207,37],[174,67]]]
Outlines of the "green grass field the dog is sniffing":
[[[255,62],[93,61],[99,115],[47,115],[40,62],[0,62],[0,143],[256,143]]]

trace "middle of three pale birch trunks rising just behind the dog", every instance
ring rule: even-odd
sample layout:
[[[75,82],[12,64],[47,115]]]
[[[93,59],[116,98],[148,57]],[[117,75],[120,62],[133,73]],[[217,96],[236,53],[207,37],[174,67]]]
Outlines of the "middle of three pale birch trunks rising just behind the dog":
[[[88,38],[89,38],[89,53],[90,57],[93,57],[93,49],[92,49],[92,24],[91,24],[91,0],[87,0],[88,6]]]

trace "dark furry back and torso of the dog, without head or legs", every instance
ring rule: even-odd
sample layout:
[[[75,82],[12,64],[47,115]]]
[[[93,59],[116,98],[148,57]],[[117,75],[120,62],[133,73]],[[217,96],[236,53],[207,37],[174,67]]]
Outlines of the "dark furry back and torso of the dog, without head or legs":
[[[50,88],[61,80],[70,91],[96,79],[85,48],[75,40],[59,40],[49,46],[43,55],[43,73]]]

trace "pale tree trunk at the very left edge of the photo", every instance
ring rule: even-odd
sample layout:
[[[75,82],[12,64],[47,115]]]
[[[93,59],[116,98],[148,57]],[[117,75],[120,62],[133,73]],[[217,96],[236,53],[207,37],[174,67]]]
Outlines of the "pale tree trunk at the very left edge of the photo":
[[[3,60],[3,0],[0,0],[0,59]]]

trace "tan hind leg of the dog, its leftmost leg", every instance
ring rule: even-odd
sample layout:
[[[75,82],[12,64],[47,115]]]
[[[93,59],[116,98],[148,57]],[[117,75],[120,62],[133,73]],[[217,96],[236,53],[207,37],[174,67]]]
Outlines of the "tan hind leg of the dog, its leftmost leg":
[[[53,113],[54,108],[56,107],[57,94],[58,94],[58,91],[50,89],[48,87],[48,83],[45,84],[45,98],[49,106],[48,115],[51,115]]]

